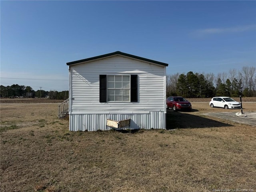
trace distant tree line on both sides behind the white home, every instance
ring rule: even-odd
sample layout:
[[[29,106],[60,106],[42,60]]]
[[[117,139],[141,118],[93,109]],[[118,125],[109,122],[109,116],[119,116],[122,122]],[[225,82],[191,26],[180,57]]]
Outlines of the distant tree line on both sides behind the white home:
[[[185,98],[210,98],[213,96],[238,97],[240,92],[246,97],[256,96],[256,68],[242,67],[222,72],[200,74],[192,71],[187,74],[166,75],[166,96],[183,96]],[[0,86],[0,97],[3,98],[49,98],[67,99],[68,91],[34,91],[30,86],[13,84]]]

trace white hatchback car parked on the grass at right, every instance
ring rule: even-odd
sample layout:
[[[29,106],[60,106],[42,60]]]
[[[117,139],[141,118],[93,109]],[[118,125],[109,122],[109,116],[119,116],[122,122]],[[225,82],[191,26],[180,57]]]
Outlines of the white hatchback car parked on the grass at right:
[[[241,104],[236,102],[234,99],[230,97],[213,97],[210,100],[211,107],[221,107],[225,109],[240,109]]]

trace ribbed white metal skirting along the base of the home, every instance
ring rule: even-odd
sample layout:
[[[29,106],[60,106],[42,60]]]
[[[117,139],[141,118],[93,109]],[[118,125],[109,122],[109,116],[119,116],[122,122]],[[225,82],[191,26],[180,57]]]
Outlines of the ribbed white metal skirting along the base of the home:
[[[166,114],[164,112],[149,112],[146,114],[70,114],[70,131],[110,130],[107,119],[121,121],[131,119],[130,126],[123,129],[166,129]]]

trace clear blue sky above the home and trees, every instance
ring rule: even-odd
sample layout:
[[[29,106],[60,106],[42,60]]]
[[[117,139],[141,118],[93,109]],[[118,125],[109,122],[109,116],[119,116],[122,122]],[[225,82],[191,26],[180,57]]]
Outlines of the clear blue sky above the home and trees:
[[[256,1],[0,1],[1,78],[68,90],[67,62],[121,51],[167,74],[256,66]]]

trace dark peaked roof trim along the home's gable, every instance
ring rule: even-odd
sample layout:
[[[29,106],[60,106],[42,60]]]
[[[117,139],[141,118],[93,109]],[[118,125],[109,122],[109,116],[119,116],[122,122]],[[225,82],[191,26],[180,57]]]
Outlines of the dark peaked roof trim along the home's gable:
[[[151,59],[146,59],[146,58],[143,58],[143,57],[138,57],[138,56],[127,54],[127,53],[123,53],[123,52],[120,52],[120,51],[116,51],[116,52],[113,52],[113,53],[108,53],[108,54],[104,54],[104,55],[100,55],[100,56],[96,56],[96,57],[91,57],[91,58],[87,58],[87,59],[82,59],[82,60],[78,60],[78,61],[68,62],[67,65],[70,66],[70,65],[73,65],[73,64],[78,64],[78,63],[81,63],[81,62],[96,60],[96,59],[100,59],[100,58],[104,58],[104,57],[109,57],[109,56],[113,56],[113,55],[123,55],[123,56],[131,57],[131,58],[135,58],[135,59],[138,59],[138,60],[143,60],[143,61],[146,61],[146,62],[151,62],[151,63],[163,65],[163,66],[166,66],[166,67],[168,66],[167,63],[162,63],[162,62],[154,61],[154,60],[151,60]]]

